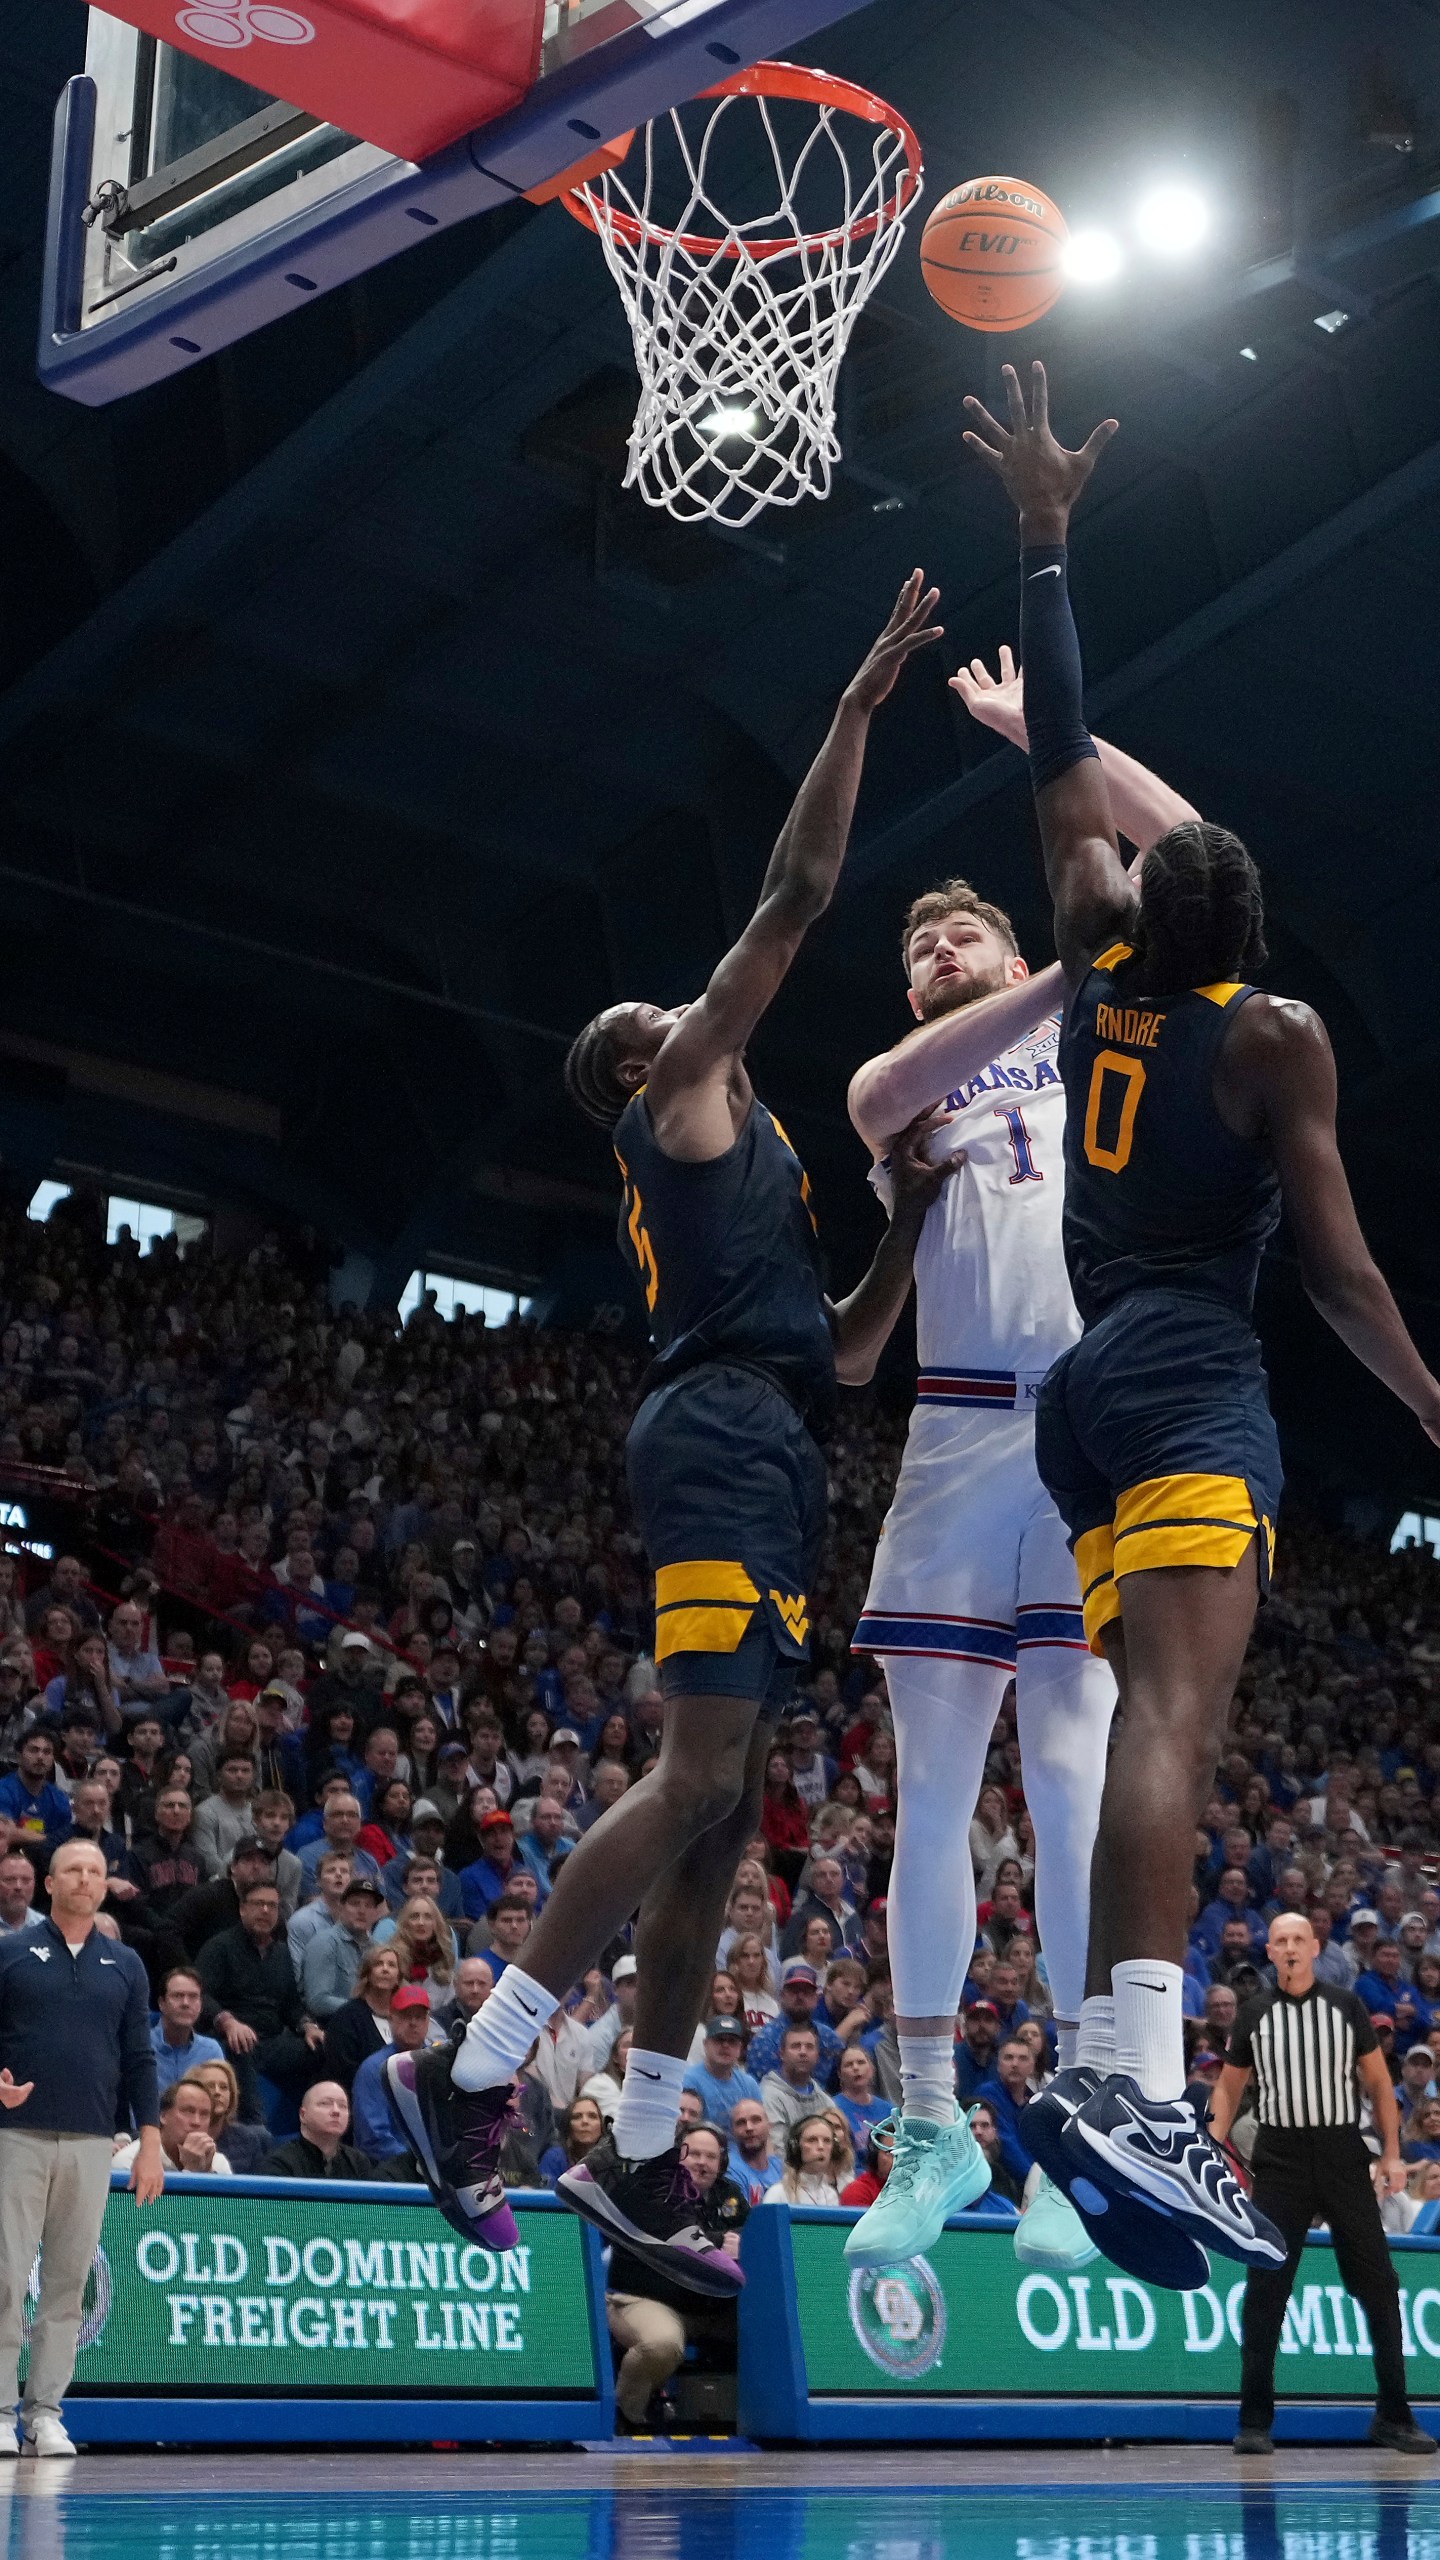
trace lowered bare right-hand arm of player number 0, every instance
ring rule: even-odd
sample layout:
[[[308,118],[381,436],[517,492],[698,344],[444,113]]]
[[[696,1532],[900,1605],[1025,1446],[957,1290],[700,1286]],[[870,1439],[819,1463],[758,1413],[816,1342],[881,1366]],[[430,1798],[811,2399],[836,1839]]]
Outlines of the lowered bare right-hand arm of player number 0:
[[[1220,1057],[1217,1098],[1227,1119],[1250,1121],[1271,1144],[1307,1298],[1440,1441],[1440,1382],[1376,1270],[1340,1162],[1335,1057],[1320,1016],[1307,1004],[1250,996]]]

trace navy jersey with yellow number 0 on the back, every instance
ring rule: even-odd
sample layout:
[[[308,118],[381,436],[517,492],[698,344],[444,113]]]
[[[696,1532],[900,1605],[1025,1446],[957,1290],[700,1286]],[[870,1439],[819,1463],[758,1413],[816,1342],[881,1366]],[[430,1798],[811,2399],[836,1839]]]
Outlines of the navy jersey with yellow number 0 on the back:
[[[1066,1265],[1084,1324],[1166,1288],[1250,1313],[1281,1190],[1271,1155],[1215,1108],[1220,1042],[1248,986],[1153,1004],[1127,942],[1099,955],[1061,1034]]]

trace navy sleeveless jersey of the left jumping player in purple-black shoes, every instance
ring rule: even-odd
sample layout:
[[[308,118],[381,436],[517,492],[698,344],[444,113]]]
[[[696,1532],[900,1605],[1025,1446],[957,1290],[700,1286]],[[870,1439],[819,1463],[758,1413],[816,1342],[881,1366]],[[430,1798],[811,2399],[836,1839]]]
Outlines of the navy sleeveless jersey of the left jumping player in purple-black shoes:
[[[620,1252],[641,1270],[656,1357],[648,1388],[702,1362],[764,1370],[812,1431],[835,1411],[835,1347],[820,1285],[810,1183],[784,1129],[753,1101],[725,1155],[664,1155],[643,1093],[615,1129],[625,1178]]]

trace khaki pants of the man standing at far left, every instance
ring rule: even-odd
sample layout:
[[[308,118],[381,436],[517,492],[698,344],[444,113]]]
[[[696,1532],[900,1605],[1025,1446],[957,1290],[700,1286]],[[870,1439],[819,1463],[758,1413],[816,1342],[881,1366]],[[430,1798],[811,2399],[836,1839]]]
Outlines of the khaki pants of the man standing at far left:
[[[85,2278],[100,2245],[113,2145],[95,2132],[0,2130],[0,2427],[20,2396],[26,2286],[41,2250],[26,2419],[59,2417],[74,2373]]]

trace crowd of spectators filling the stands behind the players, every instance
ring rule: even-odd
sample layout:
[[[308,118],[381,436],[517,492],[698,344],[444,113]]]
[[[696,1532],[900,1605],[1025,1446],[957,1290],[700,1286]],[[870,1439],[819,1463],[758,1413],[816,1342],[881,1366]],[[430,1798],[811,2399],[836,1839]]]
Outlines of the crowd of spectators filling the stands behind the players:
[[[405,1326],[336,1311],[323,1254],[141,1257],[69,1206],[0,1219],[0,1492],[61,1495],[69,1521],[49,1562],[0,1533],[0,1933],[33,1925],[61,1838],[97,1841],[108,1925],[151,1979],[167,2158],[407,2176],[384,2053],[479,2010],[659,1751],[623,1482],[641,1362],[433,1303]],[[812,1664],[687,2079],[715,2212],[858,2204],[887,2173],[897,1764],[851,1633],[902,1431],[848,1398],[830,1449]],[[1197,1833],[1191,2071],[1215,2076],[1266,1979],[1268,1917],[1309,1912],[1322,1979],[1358,1987],[1391,2056],[1417,2194],[1440,2186],[1437,1789],[1435,1559],[1286,1518]],[[1010,1700],[969,1853],[956,2086],[1012,2214],[1053,2038]],[[515,2184],[600,2138],[633,2004],[620,1938],[525,2066]]]

